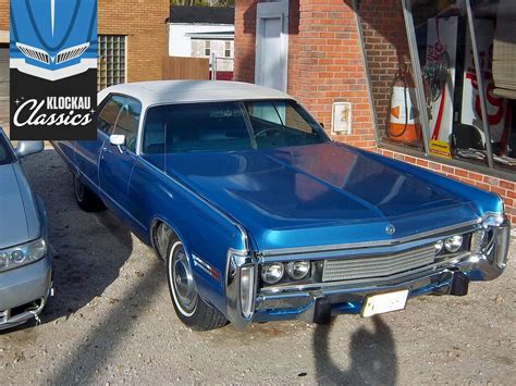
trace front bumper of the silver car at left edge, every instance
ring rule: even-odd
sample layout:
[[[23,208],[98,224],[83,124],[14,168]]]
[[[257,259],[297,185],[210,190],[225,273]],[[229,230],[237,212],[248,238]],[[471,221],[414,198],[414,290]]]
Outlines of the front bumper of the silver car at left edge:
[[[37,317],[52,288],[50,258],[0,273],[0,329]]]

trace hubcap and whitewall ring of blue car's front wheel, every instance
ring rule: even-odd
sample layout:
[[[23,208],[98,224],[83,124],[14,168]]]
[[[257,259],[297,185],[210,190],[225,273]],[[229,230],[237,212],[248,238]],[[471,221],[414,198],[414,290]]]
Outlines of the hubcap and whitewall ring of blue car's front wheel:
[[[197,287],[181,241],[174,242],[169,254],[169,281],[175,306],[185,316],[192,316],[197,307]]]

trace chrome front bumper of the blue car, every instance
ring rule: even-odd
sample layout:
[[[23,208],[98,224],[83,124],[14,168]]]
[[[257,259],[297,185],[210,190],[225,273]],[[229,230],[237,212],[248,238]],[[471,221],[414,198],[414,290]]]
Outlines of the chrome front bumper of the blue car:
[[[242,308],[238,307],[243,294],[238,281],[238,261],[247,270],[254,267],[255,284],[258,282],[258,265],[251,258],[239,258],[234,260],[237,266],[232,269],[233,279],[229,281],[226,287],[228,316],[237,327],[245,327],[250,322],[296,319],[324,323],[331,315],[360,313],[366,297],[373,294],[408,289],[409,298],[429,294],[463,296],[467,294],[469,281],[491,281],[503,273],[509,233],[511,226],[504,221],[496,229],[495,242],[486,253],[467,253],[447,265],[426,266],[386,278],[255,289],[254,307],[246,316],[243,316]]]

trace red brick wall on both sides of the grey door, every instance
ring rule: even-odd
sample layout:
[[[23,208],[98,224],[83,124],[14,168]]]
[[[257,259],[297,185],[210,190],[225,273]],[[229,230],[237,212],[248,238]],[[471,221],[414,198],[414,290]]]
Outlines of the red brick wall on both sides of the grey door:
[[[235,80],[255,79],[257,2],[236,0]],[[290,1],[287,77],[287,92],[328,130],[332,102],[351,102],[353,134],[334,139],[374,149],[366,73],[351,5],[342,0]]]

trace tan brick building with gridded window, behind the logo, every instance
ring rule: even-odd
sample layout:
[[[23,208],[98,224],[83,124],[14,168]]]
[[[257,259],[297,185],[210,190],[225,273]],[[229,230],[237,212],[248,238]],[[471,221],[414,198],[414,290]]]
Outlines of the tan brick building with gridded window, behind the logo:
[[[98,87],[161,79],[169,0],[98,0]],[[0,0],[0,124],[9,122],[9,0]]]

